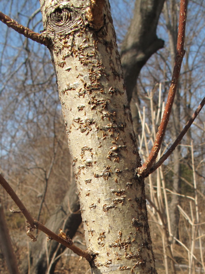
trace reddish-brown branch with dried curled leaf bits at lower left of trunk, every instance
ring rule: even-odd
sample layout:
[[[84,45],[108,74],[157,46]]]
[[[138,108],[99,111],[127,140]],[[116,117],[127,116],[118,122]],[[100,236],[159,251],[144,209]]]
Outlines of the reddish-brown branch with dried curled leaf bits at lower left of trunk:
[[[7,191],[7,193],[11,196],[12,200],[19,207],[19,209],[21,210],[23,215],[26,217],[26,220],[30,224],[31,229],[29,230],[29,233],[27,232],[27,235],[30,234],[31,230],[38,228],[39,230],[43,231],[46,235],[48,235],[49,239],[53,239],[53,240],[57,241],[58,243],[63,244],[65,247],[70,248],[77,255],[86,258],[87,261],[92,260],[91,254],[88,251],[82,250],[81,248],[78,248],[77,246],[75,246],[73,244],[73,241],[70,239],[70,237],[67,236],[66,239],[63,237],[60,237],[59,235],[55,234],[54,232],[49,230],[47,227],[45,227],[42,223],[33,219],[31,214],[29,213],[29,211],[26,209],[24,204],[21,202],[19,197],[15,194],[14,190],[11,188],[11,186],[8,184],[8,182],[4,179],[4,177],[2,177],[1,174],[0,174],[0,184]],[[33,237],[35,239],[35,237],[32,236],[32,234],[30,237]]]

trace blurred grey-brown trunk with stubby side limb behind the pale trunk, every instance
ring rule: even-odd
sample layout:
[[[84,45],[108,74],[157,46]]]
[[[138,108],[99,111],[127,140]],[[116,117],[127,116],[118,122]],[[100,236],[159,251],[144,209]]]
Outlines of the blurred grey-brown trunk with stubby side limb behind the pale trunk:
[[[121,48],[121,62],[128,94],[128,101],[136,86],[140,70],[164,41],[156,35],[159,15],[165,0],[138,0],[133,19]]]

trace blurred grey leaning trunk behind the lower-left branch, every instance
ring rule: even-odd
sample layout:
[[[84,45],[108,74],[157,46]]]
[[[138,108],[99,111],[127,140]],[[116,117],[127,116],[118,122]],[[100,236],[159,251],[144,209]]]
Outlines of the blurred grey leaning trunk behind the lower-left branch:
[[[80,205],[76,191],[76,185],[75,182],[73,182],[62,203],[58,206],[56,211],[45,224],[46,227],[54,231],[56,234],[59,233],[59,228],[61,227],[63,228],[63,231],[66,232],[70,238],[72,238],[82,222],[81,214],[78,212]],[[58,247],[58,243],[56,241],[49,241],[46,243],[47,239],[48,238],[43,232],[39,232],[37,241],[30,243],[30,273],[32,274],[46,273],[53,254]],[[64,249],[65,247],[61,245],[56,252],[56,256],[61,254]],[[49,258],[47,258],[47,254]],[[53,262],[51,273],[53,273],[56,263],[57,261]],[[21,265],[21,273],[27,274],[28,267],[28,260],[25,258]]]

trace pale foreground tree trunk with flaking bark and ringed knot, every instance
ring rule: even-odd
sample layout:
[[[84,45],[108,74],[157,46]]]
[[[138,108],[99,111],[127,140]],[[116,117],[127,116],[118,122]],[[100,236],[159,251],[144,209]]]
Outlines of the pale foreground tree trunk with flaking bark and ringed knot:
[[[43,1],[50,53],[77,181],[92,273],[156,273],[144,181],[108,1],[104,26],[89,1]],[[66,167],[65,167],[66,168]]]

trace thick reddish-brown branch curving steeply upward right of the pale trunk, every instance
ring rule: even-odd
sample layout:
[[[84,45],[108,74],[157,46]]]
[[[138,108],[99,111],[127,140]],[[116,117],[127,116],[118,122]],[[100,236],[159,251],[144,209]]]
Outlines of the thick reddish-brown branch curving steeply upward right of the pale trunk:
[[[154,145],[152,147],[152,150],[151,150],[147,160],[142,165],[142,167],[139,167],[137,169],[138,176],[145,177],[145,175],[149,173],[150,168],[152,167],[154,161],[156,160],[157,155],[158,155],[159,150],[162,145],[162,140],[165,135],[166,127],[167,127],[167,124],[169,121],[169,116],[172,111],[172,106],[173,106],[174,97],[176,94],[182,60],[183,60],[183,57],[185,54],[184,39],[185,39],[185,27],[186,27],[187,2],[188,2],[188,0],[180,1],[179,28],[178,28],[178,39],[177,39],[177,46],[176,46],[176,58],[175,58],[172,81],[171,81],[171,85],[169,88],[169,93],[168,93],[168,98],[167,98],[164,114],[163,114],[162,121],[159,126],[159,130],[157,132],[156,139],[155,139]]]

